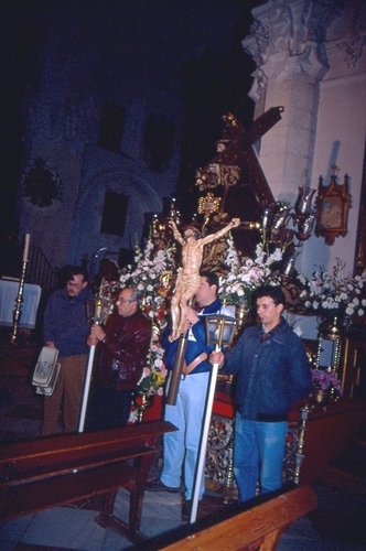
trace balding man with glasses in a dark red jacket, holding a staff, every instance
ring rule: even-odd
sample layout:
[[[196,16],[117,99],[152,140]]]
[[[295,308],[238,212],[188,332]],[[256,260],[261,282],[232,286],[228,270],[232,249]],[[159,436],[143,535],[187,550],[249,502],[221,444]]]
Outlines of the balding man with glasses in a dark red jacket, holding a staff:
[[[130,414],[132,393],[146,366],[151,324],[140,311],[141,294],[134,288],[120,291],[117,312],[106,326],[92,325],[88,345],[97,345],[86,430],[125,426]]]

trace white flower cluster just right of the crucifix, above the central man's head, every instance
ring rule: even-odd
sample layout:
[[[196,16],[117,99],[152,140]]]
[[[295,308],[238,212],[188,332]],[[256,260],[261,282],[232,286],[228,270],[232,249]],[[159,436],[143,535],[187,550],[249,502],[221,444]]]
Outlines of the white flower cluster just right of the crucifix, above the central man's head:
[[[266,252],[262,244],[257,245],[255,258],[241,259],[236,250],[232,236],[227,238],[226,266],[229,273],[220,281],[219,296],[227,304],[240,305],[247,302],[251,293],[266,283],[278,284],[279,279],[273,276],[272,268],[282,260],[282,251],[276,248],[273,252]]]

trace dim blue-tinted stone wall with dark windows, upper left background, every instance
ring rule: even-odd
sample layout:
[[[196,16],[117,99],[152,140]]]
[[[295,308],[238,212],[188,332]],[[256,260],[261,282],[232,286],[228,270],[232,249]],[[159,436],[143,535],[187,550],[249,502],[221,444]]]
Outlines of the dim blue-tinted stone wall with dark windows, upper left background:
[[[21,188],[20,235],[30,233],[31,245],[41,247],[53,268],[79,263],[100,247],[133,247],[142,235],[144,213],[161,210],[177,180],[182,107],[177,109],[176,90],[158,78],[153,64],[142,72],[144,50],[136,47],[139,36],[132,29],[121,31],[119,15],[125,17],[126,9],[114,12],[100,7],[100,21],[97,13],[79,11],[73,3],[50,7],[45,44],[39,51],[39,87],[25,101],[24,172],[42,158],[57,172],[62,198],[42,207],[28,205],[30,198],[22,197]],[[161,82],[158,89],[154,79]],[[126,112],[117,153],[97,147],[105,101]],[[173,155],[161,173],[148,169],[143,158],[144,126],[151,114],[163,114],[175,125]],[[131,196],[125,237],[100,233],[107,188]]]

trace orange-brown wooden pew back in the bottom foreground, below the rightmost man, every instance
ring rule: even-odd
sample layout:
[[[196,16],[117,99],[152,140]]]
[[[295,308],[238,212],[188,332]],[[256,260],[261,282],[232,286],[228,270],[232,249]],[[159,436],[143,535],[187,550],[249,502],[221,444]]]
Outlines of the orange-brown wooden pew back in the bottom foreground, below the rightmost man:
[[[310,486],[279,490],[149,540],[136,551],[270,551],[298,518],[316,508]],[[245,509],[245,510],[244,510]]]

